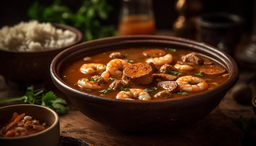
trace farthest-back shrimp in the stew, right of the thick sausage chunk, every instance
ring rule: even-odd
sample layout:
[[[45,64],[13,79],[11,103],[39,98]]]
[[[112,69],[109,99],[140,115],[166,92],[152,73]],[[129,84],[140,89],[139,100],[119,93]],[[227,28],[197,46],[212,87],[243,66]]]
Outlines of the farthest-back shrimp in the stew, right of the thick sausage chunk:
[[[166,54],[162,57],[156,57],[156,58],[148,58],[146,62],[153,62],[155,65],[164,65],[164,64],[170,64],[173,61],[173,55]]]

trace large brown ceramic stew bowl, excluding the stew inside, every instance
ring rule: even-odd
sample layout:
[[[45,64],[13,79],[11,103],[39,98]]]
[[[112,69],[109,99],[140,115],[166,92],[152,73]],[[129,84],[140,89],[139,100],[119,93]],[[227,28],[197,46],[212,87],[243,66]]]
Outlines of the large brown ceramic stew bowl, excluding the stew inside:
[[[80,56],[90,56],[91,53],[104,52],[106,49],[124,48],[124,46],[126,48],[171,47],[202,53],[225,66],[230,77],[222,85],[199,95],[146,102],[90,95],[75,89],[61,79],[60,69],[64,62],[70,62]],[[56,87],[81,113],[106,126],[132,132],[167,130],[202,119],[218,106],[239,77],[238,66],[227,53],[204,43],[161,35],[115,36],[83,42],[56,55],[50,70]]]

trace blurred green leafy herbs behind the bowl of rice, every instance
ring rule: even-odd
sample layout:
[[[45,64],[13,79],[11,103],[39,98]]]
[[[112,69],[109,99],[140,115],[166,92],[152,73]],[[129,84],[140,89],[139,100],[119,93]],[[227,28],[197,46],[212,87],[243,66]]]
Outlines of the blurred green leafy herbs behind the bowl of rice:
[[[113,7],[107,0],[83,0],[76,12],[61,0],[54,0],[49,6],[35,1],[27,11],[29,18],[39,22],[52,22],[73,26],[83,33],[83,42],[115,36],[114,25],[102,26],[101,21],[107,20]]]

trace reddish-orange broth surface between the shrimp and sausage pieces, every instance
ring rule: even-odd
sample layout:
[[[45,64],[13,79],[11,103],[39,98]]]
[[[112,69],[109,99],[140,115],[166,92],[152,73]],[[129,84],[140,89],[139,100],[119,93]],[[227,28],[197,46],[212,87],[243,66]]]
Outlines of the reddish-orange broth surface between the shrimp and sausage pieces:
[[[150,49],[150,48],[129,48],[129,49],[119,49],[119,50],[115,50],[115,51],[106,51],[104,53],[98,53],[98,54],[93,54],[90,56],[83,56],[84,57],[90,57],[91,60],[90,61],[85,61],[83,60],[83,58],[79,58],[76,59],[72,62],[67,62],[64,66],[62,66],[60,75],[62,76],[62,80],[69,84],[70,86],[72,86],[73,88],[76,88],[77,90],[83,91],[85,93],[89,93],[89,94],[93,94],[93,95],[99,95],[101,97],[107,97],[107,98],[113,98],[115,99],[115,96],[117,95],[117,93],[119,93],[121,90],[119,91],[108,91],[107,93],[100,93],[99,91],[103,90],[103,89],[107,89],[109,88],[109,85],[113,82],[112,80],[108,80],[107,82],[105,82],[104,84],[100,84],[101,88],[100,89],[93,89],[93,90],[89,90],[89,89],[85,89],[85,88],[81,88],[77,85],[77,81],[81,78],[88,78],[89,80],[91,79],[91,77],[93,75],[101,75],[101,73],[103,71],[97,71],[94,74],[84,74],[80,72],[80,67],[83,64],[87,64],[87,63],[101,63],[101,64],[107,64],[110,60],[112,60],[113,58],[110,58],[109,55],[112,52],[120,52],[123,55],[126,55],[125,58],[123,58],[124,60],[132,60],[133,62],[131,62],[131,64],[134,63],[139,63],[139,62],[146,62],[146,60],[149,58],[148,56],[143,55],[143,51],[146,49]],[[177,61],[181,60],[181,56],[182,55],[186,55],[188,53],[191,53],[191,51],[187,51],[187,50],[182,50],[182,49],[176,49],[176,51],[169,51],[166,48],[162,48],[166,51],[166,53],[170,53],[171,55],[173,55],[173,61],[171,62],[171,65],[174,66],[176,64]],[[210,58],[209,58],[210,59]],[[213,62],[213,64],[211,65],[218,65],[221,66],[220,64],[218,64],[217,62],[214,62],[213,60],[211,60]],[[156,66],[157,69],[160,68],[160,66]],[[202,69],[203,67],[211,67],[210,65],[198,65],[195,64],[193,65],[193,70],[191,71],[183,71],[183,70],[177,70],[175,69],[175,72],[180,73],[180,75],[177,75],[177,77],[181,77],[184,75],[192,75],[195,76],[195,74],[200,73],[200,69]],[[222,66],[223,68],[223,66]],[[159,71],[157,71],[156,73],[159,73]],[[119,76],[113,76],[111,75],[110,77],[115,78],[117,80],[121,80],[122,75]],[[180,97],[184,97],[184,96],[189,96],[189,95],[195,95],[201,92],[205,92],[208,90],[211,90],[213,88],[216,88],[217,86],[219,86],[220,84],[222,84],[223,82],[225,82],[228,77],[229,74],[227,71],[225,71],[225,73],[221,73],[218,75],[207,75],[204,74],[203,76],[197,76],[200,78],[203,78],[205,80],[207,80],[207,83],[209,84],[209,87],[204,90],[204,91],[200,91],[200,92],[186,92],[187,95],[182,95],[180,94],[180,92],[182,91],[175,91],[172,92],[172,97],[171,98],[180,98]],[[153,82],[151,82],[150,84],[143,84],[143,85],[129,85],[129,88],[141,88],[141,89],[152,89],[154,87],[157,87],[157,82],[156,80],[153,80]],[[148,93],[150,94],[150,96],[152,97],[152,100],[162,100],[158,99],[156,97],[154,97],[155,93],[159,92],[159,91],[163,91],[165,90],[162,87],[158,87],[156,90],[153,91],[149,91]]]

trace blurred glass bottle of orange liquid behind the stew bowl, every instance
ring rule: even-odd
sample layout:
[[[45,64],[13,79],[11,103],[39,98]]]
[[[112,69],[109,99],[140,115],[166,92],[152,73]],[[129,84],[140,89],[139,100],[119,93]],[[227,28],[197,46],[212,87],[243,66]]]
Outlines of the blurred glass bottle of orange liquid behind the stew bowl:
[[[117,35],[155,35],[152,0],[121,0]]]

